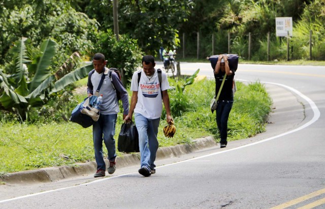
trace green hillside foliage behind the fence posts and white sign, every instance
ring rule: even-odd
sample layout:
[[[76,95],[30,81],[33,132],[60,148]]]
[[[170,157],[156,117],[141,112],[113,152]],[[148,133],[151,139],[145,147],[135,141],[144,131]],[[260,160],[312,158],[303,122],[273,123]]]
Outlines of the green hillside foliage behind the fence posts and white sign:
[[[248,58],[248,34],[251,33],[251,59],[267,60],[267,34],[270,32],[270,58],[286,59],[286,39],[276,37],[275,18],[293,17],[293,37],[290,40],[290,59],[309,58],[309,31],[313,31],[313,59],[323,60],[325,2],[322,0],[194,0],[189,21],[179,29],[185,34],[185,56],[197,55],[197,32],[200,32],[200,58],[228,52],[228,33],[231,53]],[[181,38],[183,41],[183,38]],[[291,48],[292,47],[292,48]],[[182,51],[182,46],[180,51]]]

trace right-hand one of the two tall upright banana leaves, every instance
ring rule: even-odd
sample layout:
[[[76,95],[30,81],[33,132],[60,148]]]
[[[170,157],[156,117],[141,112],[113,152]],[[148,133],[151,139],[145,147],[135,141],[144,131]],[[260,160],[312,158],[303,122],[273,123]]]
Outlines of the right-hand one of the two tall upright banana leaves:
[[[32,69],[35,71],[35,76],[30,83],[29,93],[33,93],[34,90],[36,90],[41,83],[50,76],[51,72],[49,70],[49,66],[51,65],[52,58],[55,55],[55,46],[56,43],[53,40],[47,39],[43,41],[41,45],[41,56],[33,59],[33,62],[36,61],[36,64],[30,65],[30,67],[35,68]]]

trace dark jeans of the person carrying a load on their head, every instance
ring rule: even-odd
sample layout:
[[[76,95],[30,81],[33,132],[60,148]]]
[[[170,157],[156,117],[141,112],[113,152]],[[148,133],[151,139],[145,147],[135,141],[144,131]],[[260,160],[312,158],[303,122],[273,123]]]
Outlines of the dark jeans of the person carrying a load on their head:
[[[234,101],[221,100],[217,105],[217,126],[220,132],[220,143],[227,144],[228,136],[228,118],[229,113],[232,110]]]

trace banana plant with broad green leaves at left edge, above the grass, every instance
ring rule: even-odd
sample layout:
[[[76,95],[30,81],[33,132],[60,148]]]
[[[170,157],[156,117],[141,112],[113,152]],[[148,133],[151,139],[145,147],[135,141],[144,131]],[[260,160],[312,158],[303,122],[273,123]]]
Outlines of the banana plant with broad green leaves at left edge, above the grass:
[[[52,93],[86,77],[93,68],[90,64],[73,70],[75,58],[80,57],[79,53],[74,53],[56,73],[51,74],[50,66],[56,53],[55,41],[44,40],[39,55],[31,60],[27,57],[25,41],[26,38],[22,37],[13,48],[16,55],[15,72],[8,75],[0,69],[0,104],[4,109],[18,114],[21,121],[28,120],[31,107],[46,104]]]

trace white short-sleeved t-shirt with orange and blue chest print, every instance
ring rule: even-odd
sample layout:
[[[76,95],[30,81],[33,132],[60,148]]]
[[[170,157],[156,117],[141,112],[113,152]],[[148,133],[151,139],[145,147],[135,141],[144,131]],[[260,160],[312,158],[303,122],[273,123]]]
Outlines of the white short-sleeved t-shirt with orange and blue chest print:
[[[154,70],[153,76],[147,77],[141,70],[141,78],[138,86],[138,72],[134,72],[131,81],[131,91],[138,92],[138,102],[135,113],[140,113],[148,119],[156,119],[161,116],[163,111],[163,101],[161,91],[169,89],[167,75],[161,71],[161,91],[158,79],[157,69]]]

